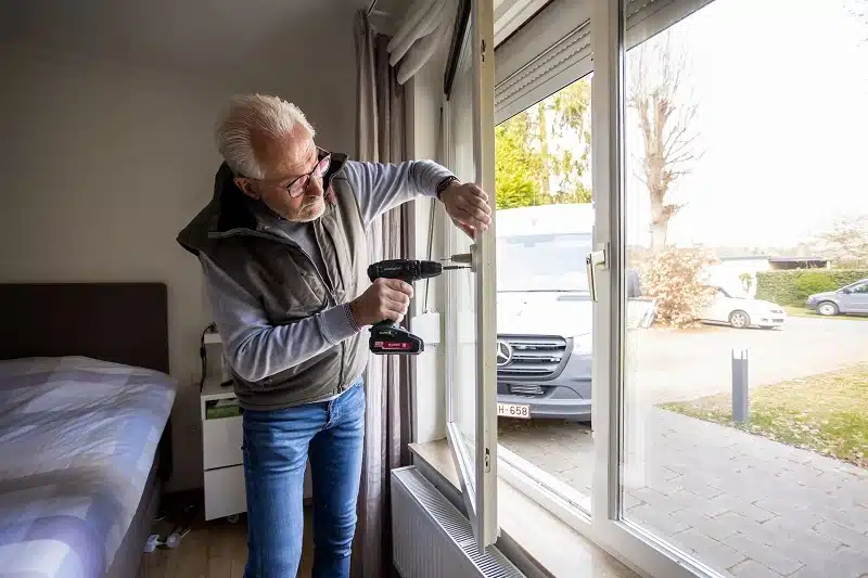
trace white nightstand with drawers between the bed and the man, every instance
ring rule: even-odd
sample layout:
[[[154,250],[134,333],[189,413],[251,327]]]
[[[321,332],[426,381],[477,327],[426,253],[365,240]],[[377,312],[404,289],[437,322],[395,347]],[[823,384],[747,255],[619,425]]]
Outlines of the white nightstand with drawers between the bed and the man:
[[[208,419],[208,407],[234,401],[232,386],[219,380],[206,380],[200,395],[202,416],[202,464],[205,470],[205,519],[230,517],[247,511],[244,494],[244,467],[241,442],[241,415]],[[214,413],[214,412],[213,412]],[[312,496],[310,467],[305,472],[305,500]]]

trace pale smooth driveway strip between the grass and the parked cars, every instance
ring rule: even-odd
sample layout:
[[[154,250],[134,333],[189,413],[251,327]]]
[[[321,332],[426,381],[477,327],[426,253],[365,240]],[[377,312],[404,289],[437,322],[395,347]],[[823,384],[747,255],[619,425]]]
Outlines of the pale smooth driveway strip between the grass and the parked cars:
[[[868,322],[790,318],[780,331],[638,330],[627,337],[627,391],[643,404],[731,389],[732,349],[746,348],[751,386],[833,371],[868,360]]]

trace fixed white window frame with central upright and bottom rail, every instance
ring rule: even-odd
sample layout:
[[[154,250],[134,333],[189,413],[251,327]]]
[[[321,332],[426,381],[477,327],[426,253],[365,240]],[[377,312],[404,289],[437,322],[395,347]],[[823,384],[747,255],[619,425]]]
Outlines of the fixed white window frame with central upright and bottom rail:
[[[623,205],[625,55],[628,48],[651,36],[647,31],[650,29],[649,23],[653,22],[653,26],[668,26],[712,0],[656,0],[660,4],[652,10],[644,9],[647,14],[642,16],[647,16],[647,20],[630,29],[629,34],[624,26],[622,1],[624,0],[583,0],[582,7],[575,1],[564,4],[564,10],[589,15],[592,70],[587,69],[585,62],[573,65],[569,70],[559,73],[557,79],[549,78],[541,90],[533,91],[535,97],[539,97],[536,100],[541,100],[586,74],[593,73],[591,88],[593,134],[591,162],[596,214],[593,241],[596,249],[607,252],[607,262],[604,267],[596,269],[595,275],[598,300],[593,308],[595,472],[590,514],[580,510],[580,504],[574,497],[567,496],[565,491],[559,491],[557,483],[546,480],[545,476],[528,471],[520,457],[503,451],[499,466],[502,477],[508,483],[524,491],[529,498],[638,573],[671,578],[715,577],[717,574],[713,569],[677,554],[672,547],[644,528],[622,519],[620,504],[621,451],[624,436],[622,391],[625,324],[623,321],[626,319],[626,293],[623,291],[626,283],[623,267],[625,262]],[[554,3],[557,2],[558,0]],[[545,17],[545,11],[537,17]],[[532,28],[533,24],[529,23],[527,28]],[[569,25],[575,27],[575,24],[573,22]],[[519,35],[524,33],[525,30],[521,30]],[[508,51],[505,54],[509,57]],[[516,69],[509,69],[507,74],[521,74],[518,67],[513,68]],[[540,97],[544,92],[545,94]],[[527,99],[529,97],[524,98],[522,103],[524,104]],[[532,104],[533,102],[527,103],[524,108]],[[493,118],[499,123],[524,108],[519,108],[512,103],[508,108],[497,111]],[[489,331],[496,335],[496,326],[489,327]],[[481,333],[481,335],[486,334]],[[486,341],[494,343],[490,337]]]

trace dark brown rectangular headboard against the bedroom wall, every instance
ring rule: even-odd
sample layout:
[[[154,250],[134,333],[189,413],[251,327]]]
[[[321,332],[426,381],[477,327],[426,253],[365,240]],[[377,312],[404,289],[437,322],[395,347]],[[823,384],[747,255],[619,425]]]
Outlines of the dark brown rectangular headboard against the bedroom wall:
[[[60,356],[168,373],[166,284],[0,284],[0,359]]]

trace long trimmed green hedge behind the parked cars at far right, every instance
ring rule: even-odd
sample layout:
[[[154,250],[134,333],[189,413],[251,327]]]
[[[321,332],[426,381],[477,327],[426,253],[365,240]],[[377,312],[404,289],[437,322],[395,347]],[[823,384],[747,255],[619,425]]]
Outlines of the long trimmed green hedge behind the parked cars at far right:
[[[756,298],[803,307],[808,295],[868,278],[868,269],[792,269],[756,273]]]

